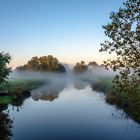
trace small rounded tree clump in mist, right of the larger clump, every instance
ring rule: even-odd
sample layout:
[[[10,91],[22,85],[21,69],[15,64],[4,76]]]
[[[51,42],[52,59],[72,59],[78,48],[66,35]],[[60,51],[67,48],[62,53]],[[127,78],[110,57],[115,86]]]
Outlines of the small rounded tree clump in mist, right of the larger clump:
[[[84,61],[81,61],[81,63],[76,63],[76,65],[73,68],[74,73],[82,73],[86,72],[87,70],[87,65],[85,65]]]

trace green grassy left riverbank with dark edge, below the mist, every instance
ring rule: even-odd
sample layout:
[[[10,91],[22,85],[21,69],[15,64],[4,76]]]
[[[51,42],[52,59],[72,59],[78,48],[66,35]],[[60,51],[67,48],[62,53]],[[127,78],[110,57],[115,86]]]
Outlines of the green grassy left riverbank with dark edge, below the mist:
[[[43,84],[44,81],[41,80],[10,80],[6,85],[0,87],[1,91],[7,92],[6,96],[0,97],[0,104],[11,104],[15,99],[24,98],[25,91],[31,91]]]

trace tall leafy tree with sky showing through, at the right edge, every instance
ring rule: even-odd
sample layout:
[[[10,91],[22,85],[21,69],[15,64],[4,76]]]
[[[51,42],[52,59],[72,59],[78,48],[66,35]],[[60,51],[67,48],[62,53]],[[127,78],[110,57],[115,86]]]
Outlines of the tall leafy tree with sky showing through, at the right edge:
[[[124,92],[132,93],[140,83],[140,1],[127,0],[118,12],[112,12],[111,22],[103,26],[110,39],[102,43],[100,51],[117,55],[104,62],[106,68],[119,71],[114,82]]]

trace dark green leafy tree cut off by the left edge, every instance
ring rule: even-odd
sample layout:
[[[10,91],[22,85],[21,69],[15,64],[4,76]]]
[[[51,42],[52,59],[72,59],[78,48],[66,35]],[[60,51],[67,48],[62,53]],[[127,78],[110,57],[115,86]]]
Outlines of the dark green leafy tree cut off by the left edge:
[[[9,75],[11,68],[7,66],[10,63],[11,56],[8,53],[0,53],[0,84],[6,82],[7,76]]]

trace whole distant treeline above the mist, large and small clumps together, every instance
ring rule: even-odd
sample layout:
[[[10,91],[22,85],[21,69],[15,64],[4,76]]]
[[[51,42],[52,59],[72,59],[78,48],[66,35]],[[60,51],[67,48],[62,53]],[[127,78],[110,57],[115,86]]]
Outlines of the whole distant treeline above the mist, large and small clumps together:
[[[89,66],[93,66],[94,68],[101,68],[104,65],[98,65],[95,61],[89,62],[85,64],[84,61],[77,62],[73,67],[73,72],[83,73],[86,72]],[[41,56],[41,57],[32,57],[31,60],[27,62],[27,64],[23,66],[19,66],[16,68],[18,71],[44,71],[44,72],[66,72],[65,67],[58,61],[57,58],[52,55]]]

